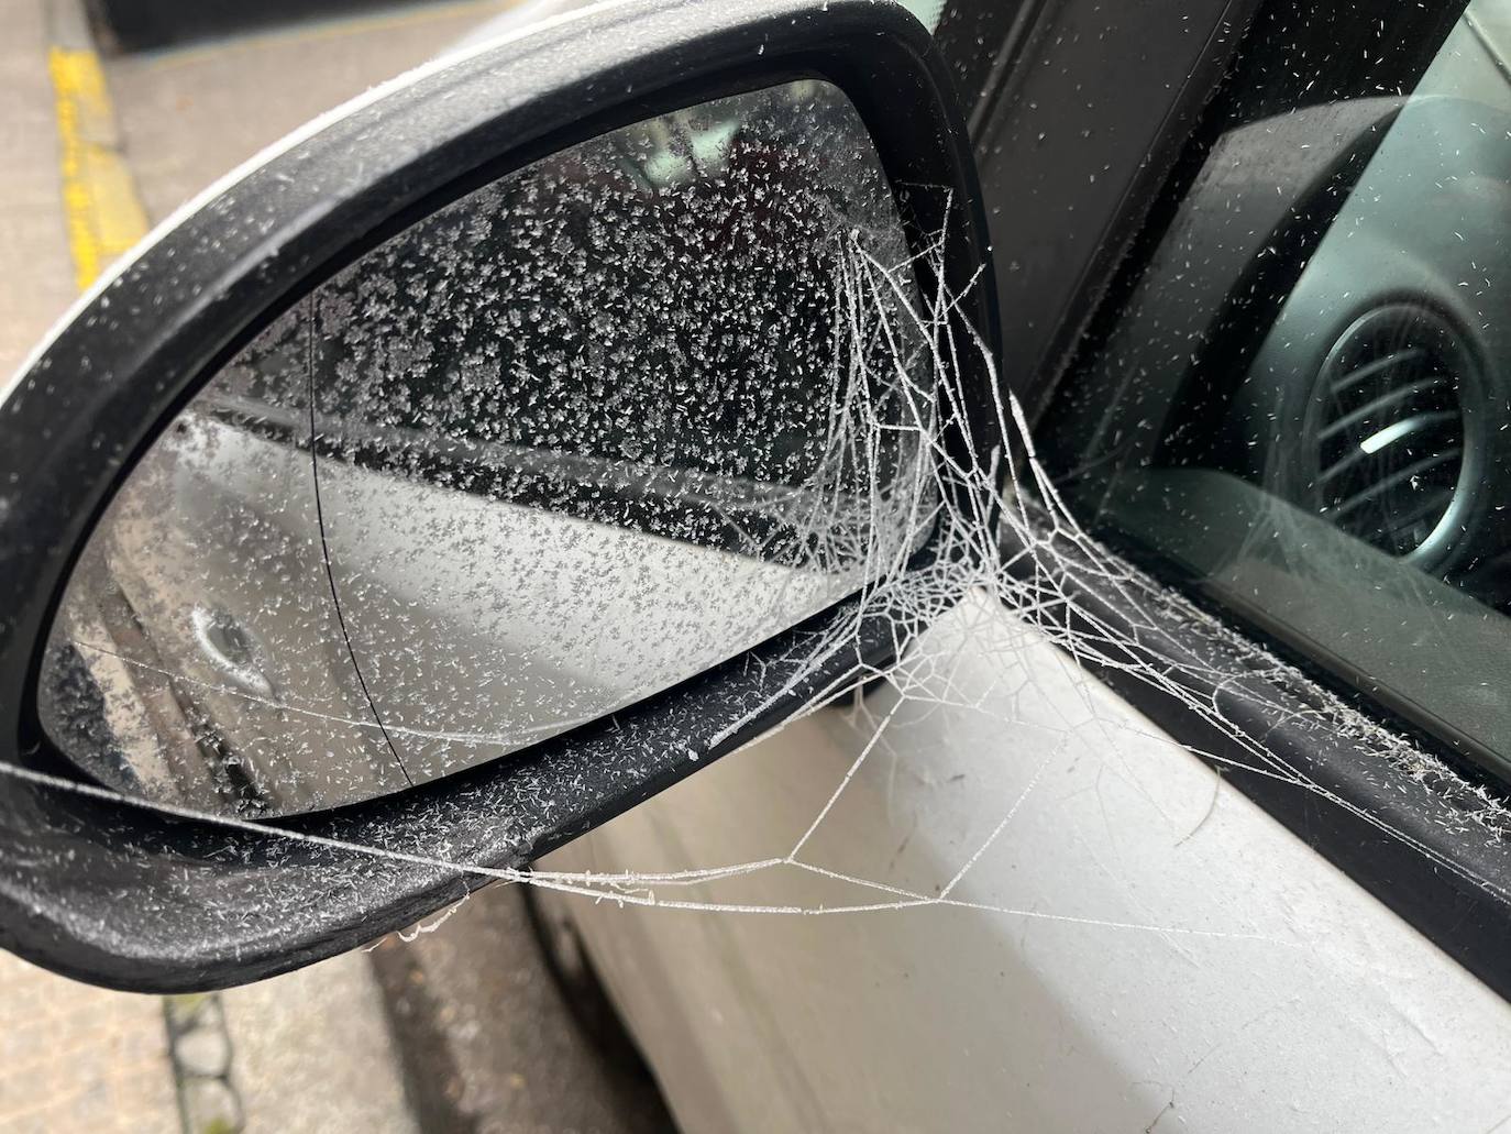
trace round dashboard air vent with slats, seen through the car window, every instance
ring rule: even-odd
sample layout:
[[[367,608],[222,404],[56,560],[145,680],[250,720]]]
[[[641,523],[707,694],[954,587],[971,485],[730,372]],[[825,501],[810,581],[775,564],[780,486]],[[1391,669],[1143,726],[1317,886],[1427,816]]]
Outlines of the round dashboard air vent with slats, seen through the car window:
[[[1380,307],[1349,327],[1318,375],[1307,435],[1316,508],[1392,555],[1437,559],[1464,472],[1473,360],[1426,307]]]

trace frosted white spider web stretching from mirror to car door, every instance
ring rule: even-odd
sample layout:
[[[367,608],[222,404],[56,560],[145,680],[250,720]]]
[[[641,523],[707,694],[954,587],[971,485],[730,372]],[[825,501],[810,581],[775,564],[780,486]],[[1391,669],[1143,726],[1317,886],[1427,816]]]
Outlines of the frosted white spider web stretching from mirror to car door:
[[[997,381],[996,360],[958,318],[963,296],[947,293],[943,286],[925,295],[913,289],[916,280],[943,280],[947,239],[949,233],[937,233],[916,254],[890,262],[881,260],[851,228],[839,231],[828,243],[834,281],[834,330],[836,337],[846,340],[848,346],[834,351],[840,372],[831,383],[834,396],[827,413],[827,451],[833,455],[845,449],[845,454],[843,460],[819,461],[810,481],[784,496],[778,508],[786,520],[784,540],[790,541],[793,529],[805,534],[798,543],[808,549],[808,562],[834,569],[834,564],[861,561],[864,567],[860,578],[864,585],[858,599],[846,608],[843,620],[831,624],[822,637],[805,640],[807,655],[789,680],[789,688],[811,673],[825,671],[834,658],[852,655],[861,624],[878,612],[893,621],[896,649],[895,658],[887,664],[863,665],[833,682],[783,726],[793,729],[804,718],[817,714],[845,714],[855,739],[852,761],[817,801],[795,841],[774,845],[759,857],[681,869],[638,871],[633,863],[612,871],[499,868],[471,862],[465,856],[416,853],[286,830],[275,823],[171,801],[159,800],[147,806],[292,842],[438,866],[474,881],[523,883],[621,906],[825,916],[914,907],[970,907],[1126,930],[1213,937],[1254,936],[1221,927],[1141,924],[1040,907],[993,906],[961,897],[961,885],[988,853],[1012,841],[1015,821],[1032,795],[1043,788],[1044,774],[1055,761],[1065,756],[1077,733],[1095,732],[1112,747],[1121,739],[1150,739],[1147,726],[1138,718],[1109,712],[1105,706],[1097,708],[1085,697],[1085,691],[1102,679],[1095,674],[1105,677],[1115,671],[1124,680],[1144,683],[1177,700],[1194,717],[1236,742],[1241,758],[1234,758],[1231,750],[1198,753],[1213,765],[1241,767],[1247,773],[1312,792],[1330,806],[1348,809],[1392,838],[1408,842],[1440,868],[1463,874],[1461,865],[1413,841],[1407,833],[1392,830],[1384,820],[1319,785],[1301,767],[1268,747],[1265,736],[1251,735],[1242,721],[1224,709],[1221,699],[1192,692],[1192,686],[1204,685],[1239,699],[1262,699],[1269,679],[1281,679],[1290,686],[1302,682],[1312,694],[1309,706],[1296,711],[1289,703],[1277,702],[1274,714],[1302,720],[1315,730],[1313,735],[1336,736],[1340,744],[1375,750],[1383,777],[1407,774],[1455,800],[1466,830],[1479,830],[1487,839],[1499,839],[1505,824],[1511,821],[1499,801],[1484,789],[1463,780],[1440,761],[1419,751],[1342,700],[1310,685],[1245,637],[1228,631],[1179,593],[1108,550],[1077,522],[1035,452],[1021,405]],[[882,349],[878,351],[878,345]],[[887,381],[876,381],[878,358],[887,360],[891,367]],[[967,372],[985,372],[988,381],[966,389],[961,375]],[[979,401],[982,393],[990,401],[988,413],[979,413],[979,405],[975,407],[976,413],[969,413],[970,401]],[[885,402],[885,410],[879,408],[881,402]],[[898,405],[905,411],[899,414]],[[959,445],[959,437],[952,437],[952,431],[969,434],[982,428],[990,435],[967,435],[964,446]],[[899,435],[905,438],[902,443]],[[843,438],[843,443],[836,438]],[[910,458],[899,463],[899,452]],[[961,452],[984,452],[987,457],[982,461],[967,461],[961,458]],[[857,500],[854,494],[839,491],[836,473],[842,466],[854,470],[857,463],[872,473],[872,491],[866,500],[869,516],[860,522],[854,516]],[[884,464],[890,475],[876,475]],[[899,473],[899,467],[904,472]],[[899,523],[905,526],[902,538],[896,535]],[[754,534],[748,535],[751,540],[757,538]],[[928,552],[919,555],[920,547]],[[1088,596],[1097,600],[1091,602]],[[1011,612],[1015,627],[1006,635],[985,627],[991,615],[982,612],[1000,609]],[[1117,617],[1109,617],[1109,609],[1117,611]],[[950,617],[956,618],[953,632],[928,632]],[[1151,664],[1150,658],[1159,656],[1162,644],[1179,644],[1171,632],[1173,626],[1216,644],[1221,661],[1207,665],[1180,662],[1176,661],[1180,653],[1173,650],[1165,655],[1171,658],[1165,664]],[[1017,692],[1003,699],[999,696],[999,685],[988,683],[982,688],[979,683],[972,686],[969,682],[958,682],[961,659],[972,655],[985,659],[985,665],[999,668],[1002,685],[1014,685]],[[1059,682],[1059,694],[1038,696],[1035,683],[1043,674],[1035,667],[1058,668],[1061,677],[1070,673],[1073,679],[1068,686],[1064,680]],[[887,686],[887,696],[866,696],[878,685]],[[1079,717],[1065,711],[1064,688],[1071,689],[1070,703],[1080,712]],[[771,700],[784,696],[778,692],[774,699],[751,705],[746,717],[731,723],[728,732],[739,732],[745,720],[760,717]],[[1043,720],[1046,703],[1050,705],[1047,726]],[[1003,705],[1011,708],[1003,711]],[[963,850],[953,872],[940,885],[922,889],[891,880],[887,862],[876,862],[875,869],[867,871],[849,865],[834,866],[817,857],[814,850],[823,842],[820,836],[830,833],[846,792],[854,789],[864,770],[879,761],[896,761],[899,732],[919,727],[920,717],[950,712],[994,717],[1002,729],[999,744],[956,753],[956,758],[966,762],[1014,761],[1032,768],[1011,795],[973,803],[976,810],[991,812],[993,820],[976,842]],[[1034,730],[1021,733],[1038,736],[1038,744],[1024,745],[1015,739],[1017,726],[1021,724],[1015,715],[1018,712],[1038,718]],[[1046,736],[1050,739],[1043,739]],[[748,751],[730,759],[759,761],[766,742],[757,741],[748,745]],[[128,792],[76,783],[35,770],[3,765],[3,771],[59,791],[142,804],[139,797]],[[846,833],[839,832],[834,838],[843,842]],[[701,894],[715,883],[780,871],[798,871],[843,883],[864,897],[839,903],[772,903],[731,901]],[[1473,877],[1473,881],[1505,897],[1503,883],[1497,878]],[[435,928],[437,924],[425,928]]]

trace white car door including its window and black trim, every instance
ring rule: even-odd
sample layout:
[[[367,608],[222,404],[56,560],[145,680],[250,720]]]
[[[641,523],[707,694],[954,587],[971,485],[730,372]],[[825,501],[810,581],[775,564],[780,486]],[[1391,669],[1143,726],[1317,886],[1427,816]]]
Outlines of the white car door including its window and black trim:
[[[1043,526],[548,904],[689,1129],[1494,1128],[1503,5],[944,20]]]

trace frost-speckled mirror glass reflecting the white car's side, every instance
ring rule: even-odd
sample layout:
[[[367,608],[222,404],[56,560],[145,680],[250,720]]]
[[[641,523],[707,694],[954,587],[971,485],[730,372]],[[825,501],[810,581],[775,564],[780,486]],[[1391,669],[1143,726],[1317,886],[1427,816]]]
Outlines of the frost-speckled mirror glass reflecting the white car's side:
[[[505,174],[299,299],[131,470],[53,626],[47,735],[124,792],[278,815],[704,671],[928,531],[917,302],[822,82]]]

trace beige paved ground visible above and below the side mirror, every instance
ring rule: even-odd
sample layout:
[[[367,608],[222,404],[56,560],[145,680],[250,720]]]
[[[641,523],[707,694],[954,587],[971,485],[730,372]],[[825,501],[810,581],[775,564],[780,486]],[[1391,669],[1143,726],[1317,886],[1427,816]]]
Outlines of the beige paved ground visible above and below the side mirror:
[[[101,64],[76,0],[0,0],[0,383],[121,231],[506,6],[369,9]],[[59,47],[83,51],[71,94]],[[94,228],[74,150],[115,186]],[[0,1131],[671,1128],[644,1069],[576,1025],[518,888],[426,930],[207,996],[106,992],[0,953]]]

